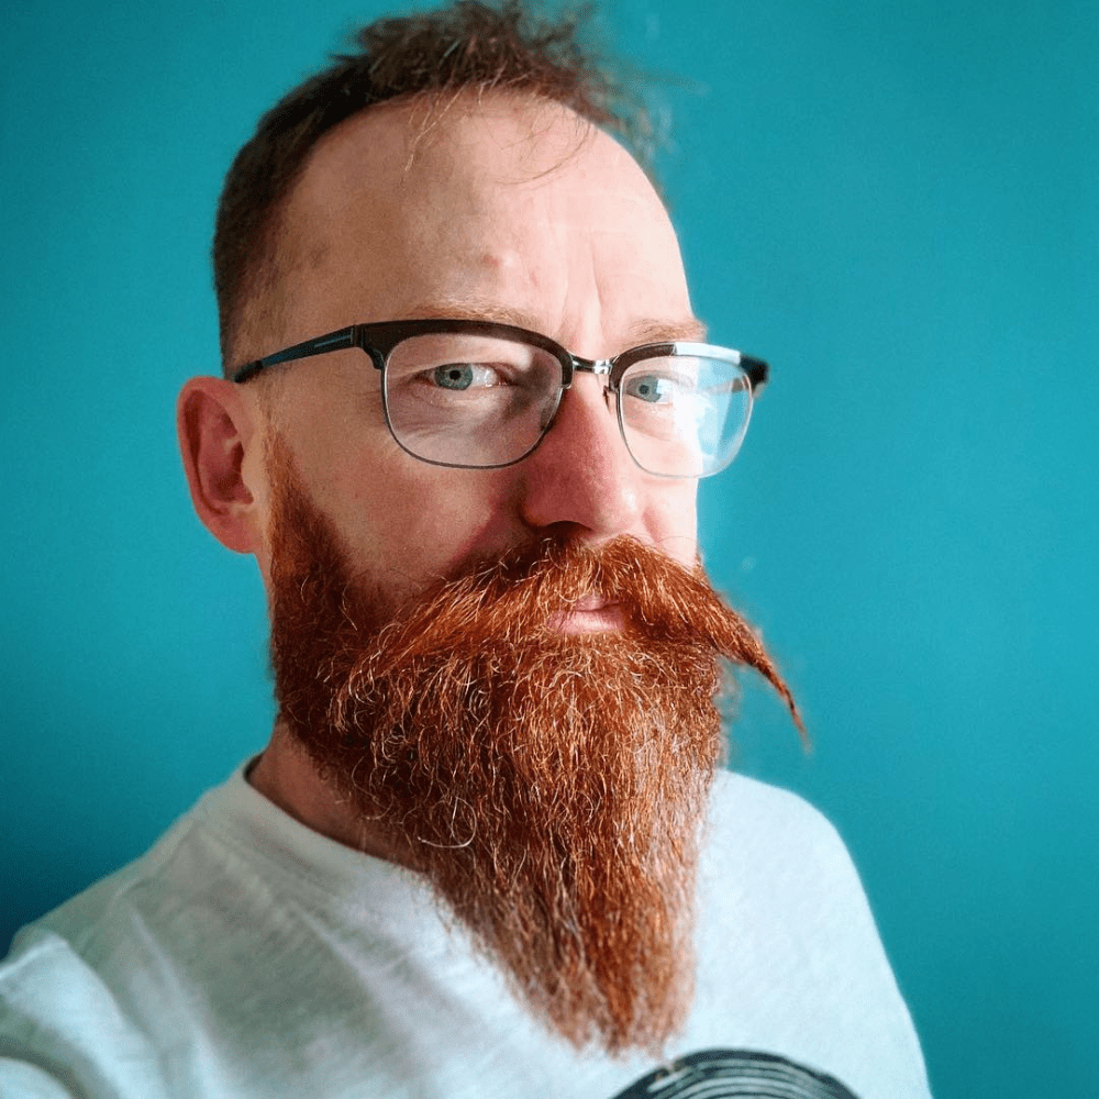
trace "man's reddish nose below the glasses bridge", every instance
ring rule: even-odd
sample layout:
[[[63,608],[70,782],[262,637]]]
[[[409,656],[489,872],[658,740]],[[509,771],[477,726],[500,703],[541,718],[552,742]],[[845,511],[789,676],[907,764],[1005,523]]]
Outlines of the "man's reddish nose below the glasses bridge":
[[[574,378],[548,434],[520,469],[529,526],[571,528],[593,542],[636,532],[646,475],[626,449],[606,378]]]

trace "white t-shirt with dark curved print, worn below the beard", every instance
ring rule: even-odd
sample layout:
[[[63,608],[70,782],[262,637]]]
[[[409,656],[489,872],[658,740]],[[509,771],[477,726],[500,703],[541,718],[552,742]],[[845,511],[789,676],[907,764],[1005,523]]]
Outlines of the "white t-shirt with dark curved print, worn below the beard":
[[[800,799],[719,776],[697,946],[673,1072],[577,1053],[422,879],[299,824],[242,768],[16,936],[0,1096],[671,1099],[701,1080],[708,1099],[929,1096],[851,859]]]

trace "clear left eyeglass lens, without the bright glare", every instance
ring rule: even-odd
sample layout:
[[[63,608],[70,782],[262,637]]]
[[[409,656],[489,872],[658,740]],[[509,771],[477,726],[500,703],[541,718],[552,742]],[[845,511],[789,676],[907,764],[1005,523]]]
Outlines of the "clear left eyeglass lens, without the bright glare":
[[[539,442],[560,395],[548,352],[499,336],[435,333],[386,364],[386,415],[410,454],[451,466],[502,466]]]

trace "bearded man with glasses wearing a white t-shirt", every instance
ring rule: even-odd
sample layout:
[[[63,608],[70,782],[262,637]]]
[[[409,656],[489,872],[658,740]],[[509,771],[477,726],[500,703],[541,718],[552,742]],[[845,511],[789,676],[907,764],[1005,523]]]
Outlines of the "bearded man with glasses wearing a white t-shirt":
[[[706,343],[570,27],[359,45],[231,169],[226,377],[179,401],[274,734],[24,930],[0,1092],[925,1096],[842,844],[715,774],[722,658],[793,709],[697,565],[765,364]]]

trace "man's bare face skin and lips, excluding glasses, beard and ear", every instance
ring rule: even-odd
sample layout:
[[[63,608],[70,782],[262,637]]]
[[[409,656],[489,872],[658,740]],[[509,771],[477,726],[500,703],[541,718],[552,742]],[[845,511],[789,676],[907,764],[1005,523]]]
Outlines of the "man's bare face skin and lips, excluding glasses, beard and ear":
[[[511,322],[589,358],[699,335],[663,206],[610,137],[564,108],[506,97],[459,99],[417,143],[422,115],[384,107],[318,147],[286,214],[285,325],[257,354],[421,317]],[[306,491],[387,608],[547,534],[630,534],[695,560],[695,484],[633,463],[602,379],[579,376],[541,447],[496,470],[401,451],[379,380],[357,349],[297,363],[275,419]],[[591,606],[566,628],[614,624]]]

